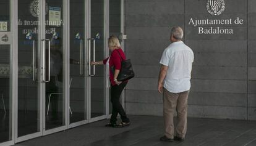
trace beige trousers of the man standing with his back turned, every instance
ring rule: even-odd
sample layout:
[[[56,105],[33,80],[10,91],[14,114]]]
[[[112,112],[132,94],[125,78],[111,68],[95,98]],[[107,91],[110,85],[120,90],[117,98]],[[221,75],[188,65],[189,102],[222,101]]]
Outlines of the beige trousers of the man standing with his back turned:
[[[163,94],[163,116],[165,136],[169,139],[174,137],[174,110],[177,111],[176,136],[185,138],[187,132],[187,99],[189,91],[172,93],[164,89]]]

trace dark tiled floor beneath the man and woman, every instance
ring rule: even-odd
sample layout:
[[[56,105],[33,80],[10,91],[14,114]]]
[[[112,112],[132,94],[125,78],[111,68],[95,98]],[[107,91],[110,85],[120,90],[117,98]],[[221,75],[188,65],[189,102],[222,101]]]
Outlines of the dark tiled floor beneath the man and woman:
[[[17,146],[256,145],[256,121],[188,119],[184,142],[161,142],[163,117],[129,116],[127,128],[106,128],[108,120],[27,140]]]

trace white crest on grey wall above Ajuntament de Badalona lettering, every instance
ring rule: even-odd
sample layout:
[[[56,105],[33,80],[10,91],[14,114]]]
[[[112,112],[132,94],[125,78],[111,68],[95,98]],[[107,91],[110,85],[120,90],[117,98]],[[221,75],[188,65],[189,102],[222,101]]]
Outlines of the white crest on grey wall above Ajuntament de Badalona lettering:
[[[225,10],[224,0],[208,0],[207,10],[211,15],[220,15]]]

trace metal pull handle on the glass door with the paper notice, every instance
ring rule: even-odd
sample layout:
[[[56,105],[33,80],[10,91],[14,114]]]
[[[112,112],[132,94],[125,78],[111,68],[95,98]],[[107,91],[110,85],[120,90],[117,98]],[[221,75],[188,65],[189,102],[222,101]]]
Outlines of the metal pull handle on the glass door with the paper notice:
[[[50,65],[51,65],[51,40],[49,39],[42,39],[43,41],[43,81],[44,82],[49,82],[50,81]],[[46,80],[46,67],[45,67],[45,56],[46,56],[46,52],[45,52],[45,43],[46,41],[48,41],[48,80]]]

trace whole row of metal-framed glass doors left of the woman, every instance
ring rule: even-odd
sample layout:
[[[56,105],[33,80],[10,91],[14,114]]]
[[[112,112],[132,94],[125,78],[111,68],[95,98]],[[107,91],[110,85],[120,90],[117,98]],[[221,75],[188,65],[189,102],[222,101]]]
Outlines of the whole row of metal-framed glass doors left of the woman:
[[[117,11],[121,0],[0,2],[0,145],[108,118],[106,68],[89,63],[121,34]]]

